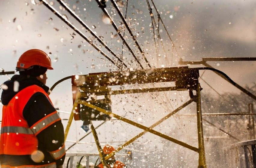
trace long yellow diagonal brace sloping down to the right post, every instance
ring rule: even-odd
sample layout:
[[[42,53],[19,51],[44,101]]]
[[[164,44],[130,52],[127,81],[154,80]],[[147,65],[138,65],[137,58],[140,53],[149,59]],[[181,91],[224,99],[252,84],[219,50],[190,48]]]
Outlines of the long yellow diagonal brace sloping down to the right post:
[[[174,142],[174,143],[176,143],[176,144],[178,144],[178,145],[184,146],[185,148],[188,148],[188,149],[190,149],[190,150],[192,150],[192,151],[198,152],[198,148],[196,148],[196,147],[194,147],[194,146],[191,146],[191,145],[189,145],[189,144],[186,144],[186,143],[184,143],[184,142],[181,142],[181,141],[179,141],[179,140],[177,140],[177,139],[174,139],[174,138],[172,138],[172,137],[170,137],[170,136],[167,136],[167,135],[165,135],[165,134],[163,134],[163,133],[160,133],[160,132],[158,132],[158,131],[156,131],[156,130],[152,130],[152,129],[150,129],[150,128],[144,126],[144,125],[138,124],[138,123],[136,123],[136,122],[134,122],[134,121],[131,121],[131,120],[127,119],[127,118],[123,118],[123,117],[121,117],[121,116],[119,116],[119,115],[116,115],[116,114],[114,114],[114,113],[111,113],[110,111],[107,111],[107,110],[105,110],[105,109],[102,109],[102,108],[99,108],[99,107],[97,107],[97,106],[95,106],[95,105],[89,104],[89,103],[86,102],[86,101],[80,101],[80,102],[78,102],[78,103],[79,103],[79,104],[84,104],[84,105],[86,105],[86,106],[88,106],[88,107],[90,107],[90,108],[93,108],[93,109],[95,109],[95,110],[97,110],[97,111],[100,111],[100,112],[102,112],[102,113],[104,113],[104,114],[106,114],[106,115],[109,115],[109,116],[111,116],[111,117],[117,118],[117,119],[119,119],[119,120],[121,120],[121,121],[124,121],[124,122],[126,122],[126,123],[128,123],[128,124],[131,124],[131,125],[133,125],[133,126],[136,126],[136,127],[140,128],[140,129],[142,129],[142,130],[148,131],[148,132],[153,133],[153,134],[155,134],[155,135],[157,135],[157,136],[160,136],[160,137],[162,137],[162,138],[164,138],[164,139],[167,139],[167,140],[169,140],[169,141],[172,141],[172,142]]]

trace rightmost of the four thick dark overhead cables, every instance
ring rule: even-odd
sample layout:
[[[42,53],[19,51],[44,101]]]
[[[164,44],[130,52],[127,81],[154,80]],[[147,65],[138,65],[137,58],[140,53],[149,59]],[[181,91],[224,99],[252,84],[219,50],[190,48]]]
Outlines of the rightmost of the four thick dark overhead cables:
[[[127,22],[126,22],[125,18],[123,17],[123,14],[121,13],[121,11],[120,11],[119,7],[117,6],[117,3],[116,3],[114,0],[111,0],[111,2],[112,2],[112,4],[114,5],[114,7],[116,8],[117,13],[118,13],[118,14],[119,14],[119,16],[121,17],[121,19],[122,19],[122,21],[123,21],[124,25],[126,26],[126,29],[128,30],[128,32],[129,32],[129,33],[130,33],[130,35],[132,36],[133,41],[135,42],[136,46],[138,47],[139,51],[140,51],[140,52],[141,52],[141,54],[142,54],[142,57],[143,57],[143,58],[144,58],[144,60],[146,61],[146,63],[147,63],[147,65],[149,66],[149,68],[151,68],[151,65],[149,64],[149,62],[148,62],[147,58],[145,57],[144,52],[142,51],[142,49],[141,49],[141,47],[140,47],[140,45],[139,45],[138,41],[136,40],[135,36],[133,35],[133,32],[131,31],[130,27],[128,26],[128,24],[127,24]]]

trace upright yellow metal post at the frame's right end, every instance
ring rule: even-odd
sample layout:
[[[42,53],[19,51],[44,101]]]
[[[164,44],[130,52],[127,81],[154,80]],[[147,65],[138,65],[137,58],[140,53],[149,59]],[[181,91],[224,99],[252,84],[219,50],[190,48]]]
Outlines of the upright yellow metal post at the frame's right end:
[[[200,83],[197,83],[197,133],[198,133],[198,168],[207,168],[205,158],[205,148],[203,142],[203,122],[202,122],[202,111],[201,111],[201,96],[200,96]]]

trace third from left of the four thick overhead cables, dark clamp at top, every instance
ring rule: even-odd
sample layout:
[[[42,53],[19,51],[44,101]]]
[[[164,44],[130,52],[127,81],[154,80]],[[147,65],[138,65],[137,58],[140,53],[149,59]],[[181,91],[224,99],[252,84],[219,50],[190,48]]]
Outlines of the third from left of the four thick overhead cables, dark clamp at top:
[[[104,14],[106,16],[108,16],[108,18],[110,19],[111,21],[111,24],[112,26],[114,27],[114,29],[116,30],[117,34],[120,36],[120,38],[123,40],[124,44],[126,45],[126,47],[128,48],[128,50],[132,53],[134,59],[137,61],[137,63],[139,63],[140,67],[142,69],[143,66],[142,64],[139,62],[138,58],[135,56],[133,50],[131,49],[131,47],[129,46],[129,44],[126,42],[126,40],[124,39],[123,35],[121,34],[120,30],[118,29],[117,25],[114,23],[114,20],[111,18],[110,14],[108,13],[108,11],[105,9],[105,4],[102,4],[102,2],[105,2],[105,1],[99,1],[99,0],[96,0],[96,2],[98,3],[99,7],[102,9],[102,11],[104,12]]]

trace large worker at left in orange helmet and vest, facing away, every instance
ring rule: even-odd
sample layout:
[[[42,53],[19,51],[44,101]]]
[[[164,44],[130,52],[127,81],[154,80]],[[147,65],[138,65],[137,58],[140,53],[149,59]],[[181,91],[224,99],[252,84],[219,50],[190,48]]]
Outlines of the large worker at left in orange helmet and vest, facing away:
[[[61,168],[64,128],[47,94],[46,71],[53,69],[42,50],[24,52],[14,75],[2,86],[0,164],[8,168]]]

